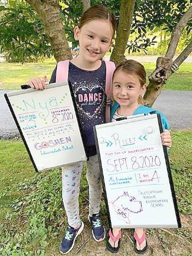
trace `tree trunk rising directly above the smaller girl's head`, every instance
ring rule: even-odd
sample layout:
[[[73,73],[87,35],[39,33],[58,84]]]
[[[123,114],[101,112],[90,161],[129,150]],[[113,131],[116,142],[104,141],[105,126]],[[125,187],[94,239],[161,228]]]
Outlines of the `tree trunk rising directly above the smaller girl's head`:
[[[130,27],[132,24],[135,0],[121,0],[119,27],[117,30],[116,44],[111,58],[116,65],[124,59],[124,52],[129,39]]]

